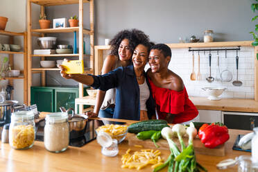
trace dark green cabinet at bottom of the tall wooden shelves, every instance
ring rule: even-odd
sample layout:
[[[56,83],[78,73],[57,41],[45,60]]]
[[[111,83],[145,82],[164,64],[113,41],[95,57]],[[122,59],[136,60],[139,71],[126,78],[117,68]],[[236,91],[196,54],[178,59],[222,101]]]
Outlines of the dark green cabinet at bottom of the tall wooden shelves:
[[[83,88],[83,95],[87,96],[86,89]],[[31,87],[31,104],[37,105],[40,112],[60,112],[59,107],[74,108],[74,99],[78,98],[78,87]]]

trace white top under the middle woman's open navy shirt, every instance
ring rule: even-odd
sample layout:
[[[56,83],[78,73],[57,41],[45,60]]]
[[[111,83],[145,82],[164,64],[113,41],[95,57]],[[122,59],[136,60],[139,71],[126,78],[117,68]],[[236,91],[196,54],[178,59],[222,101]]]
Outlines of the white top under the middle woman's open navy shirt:
[[[148,89],[148,85],[146,83],[146,79],[144,80],[144,83],[139,85],[139,91],[140,91],[140,110],[146,110],[146,101],[150,97],[150,89]]]

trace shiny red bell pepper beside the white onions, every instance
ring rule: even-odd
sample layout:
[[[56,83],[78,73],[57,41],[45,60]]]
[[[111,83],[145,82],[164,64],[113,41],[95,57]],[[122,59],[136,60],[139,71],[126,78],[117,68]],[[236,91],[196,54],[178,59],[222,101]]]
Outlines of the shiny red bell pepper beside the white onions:
[[[230,139],[227,127],[216,123],[212,123],[211,125],[207,123],[203,124],[198,131],[198,136],[207,148],[215,148]]]

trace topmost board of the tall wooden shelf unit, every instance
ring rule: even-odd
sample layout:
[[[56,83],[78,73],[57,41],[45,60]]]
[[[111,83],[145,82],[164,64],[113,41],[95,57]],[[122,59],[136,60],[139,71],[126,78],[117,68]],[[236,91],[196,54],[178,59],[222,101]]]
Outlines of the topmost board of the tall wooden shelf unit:
[[[31,0],[31,2],[40,6],[60,6],[79,3],[79,0]],[[89,1],[83,0],[83,3],[89,3]]]

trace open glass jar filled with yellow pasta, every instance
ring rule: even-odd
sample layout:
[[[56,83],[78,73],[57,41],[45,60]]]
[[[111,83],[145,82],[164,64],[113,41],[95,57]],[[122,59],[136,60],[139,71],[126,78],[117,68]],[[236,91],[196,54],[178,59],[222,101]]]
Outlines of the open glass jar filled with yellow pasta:
[[[35,140],[34,113],[13,112],[9,129],[9,144],[15,149],[31,148]]]

